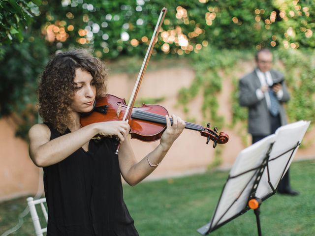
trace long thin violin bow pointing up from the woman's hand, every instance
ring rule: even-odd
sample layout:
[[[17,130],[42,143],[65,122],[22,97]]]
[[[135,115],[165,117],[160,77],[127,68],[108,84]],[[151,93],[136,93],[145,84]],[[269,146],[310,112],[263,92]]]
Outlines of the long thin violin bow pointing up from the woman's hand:
[[[150,41],[150,44],[149,44],[146,56],[145,56],[145,58],[144,58],[144,60],[142,62],[142,66],[141,66],[140,72],[138,74],[137,81],[136,81],[136,83],[135,83],[135,85],[133,87],[133,91],[131,93],[131,96],[130,96],[130,99],[129,99],[129,102],[128,102],[128,106],[126,108],[126,112],[125,112],[125,115],[124,115],[124,118],[123,118],[123,121],[126,121],[127,123],[128,123],[129,118],[131,116],[132,108],[133,108],[135,99],[137,97],[137,94],[138,94],[138,91],[139,91],[139,88],[140,88],[140,84],[142,82],[144,73],[145,73],[145,71],[147,69],[147,66],[148,66],[148,63],[149,63],[152,51],[153,51],[153,47],[154,47],[154,45],[155,45],[155,43],[156,43],[156,41],[158,39],[158,32],[161,29],[161,26],[163,24],[163,20],[164,20],[166,12],[167,12],[167,8],[163,7],[163,9],[161,10],[161,12],[159,14],[156,28],[154,29],[154,32],[152,34],[152,38],[151,38],[151,41]],[[120,148],[120,144],[118,144],[118,146],[117,146],[117,150],[115,152],[116,155],[118,155],[119,148]]]

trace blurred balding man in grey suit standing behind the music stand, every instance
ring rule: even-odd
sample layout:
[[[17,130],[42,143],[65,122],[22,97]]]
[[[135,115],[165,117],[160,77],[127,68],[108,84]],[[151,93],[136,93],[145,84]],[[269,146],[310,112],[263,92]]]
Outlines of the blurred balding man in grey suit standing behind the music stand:
[[[283,74],[271,69],[272,60],[268,49],[258,51],[255,55],[257,67],[239,81],[239,103],[248,107],[248,131],[253,144],[287,123],[283,104],[290,95]],[[291,189],[289,170],[280,181],[278,191],[292,196],[299,194]]]

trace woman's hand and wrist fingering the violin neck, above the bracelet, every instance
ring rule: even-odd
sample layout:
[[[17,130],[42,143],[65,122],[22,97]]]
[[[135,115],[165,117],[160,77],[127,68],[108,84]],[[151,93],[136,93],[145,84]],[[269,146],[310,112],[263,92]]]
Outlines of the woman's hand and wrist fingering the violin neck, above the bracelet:
[[[173,124],[171,124],[170,118],[166,115],[166,130],[162,134],[160,145],[168,150],[178,136],[183,132],[186,123],[180,117],[172,115]]]

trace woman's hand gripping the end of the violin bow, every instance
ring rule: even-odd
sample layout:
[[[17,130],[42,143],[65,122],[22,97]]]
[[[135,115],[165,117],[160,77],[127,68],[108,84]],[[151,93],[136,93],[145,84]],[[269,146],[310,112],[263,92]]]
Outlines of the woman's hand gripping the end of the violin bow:
[[[125,141],[126,136],[129,133],[130,126],[126,121],[106,121],[94,123],[97,134],[102,136],[115,135],[119,138],[120,143]]]

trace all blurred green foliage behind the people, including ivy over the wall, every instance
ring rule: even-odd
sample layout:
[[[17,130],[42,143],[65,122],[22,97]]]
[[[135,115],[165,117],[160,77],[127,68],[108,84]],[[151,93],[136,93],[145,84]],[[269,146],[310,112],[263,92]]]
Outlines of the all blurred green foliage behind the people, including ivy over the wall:
[[[153,59],[185,58],[196,71],[191,87],[179,91],[187,114],[186,104],[202,89],[204,118],[223,125],[216,113],[219,72],[232,75],[239,60],[252,60],[255,50],[267,47],[283,62],[292,88],[289,118],[314,120],[313,0],[1,0],[0,116],[13,113],[25,136],[37,121],[37,78],[50,55],[81,47],[109,62],[138,59],[162,7],[168,12]],[[138,66],[126,61],[126,71]],[[233,122],[246,119],[236,84],[233,96]]]

